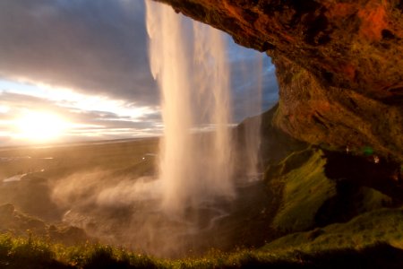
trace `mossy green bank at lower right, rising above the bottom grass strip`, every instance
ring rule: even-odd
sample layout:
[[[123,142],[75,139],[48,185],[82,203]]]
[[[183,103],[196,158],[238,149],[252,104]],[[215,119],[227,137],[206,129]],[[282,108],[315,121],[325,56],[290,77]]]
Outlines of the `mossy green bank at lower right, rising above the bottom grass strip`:
[[[403,208],[364,213],[346,223],[287,235],[264,247],[320,251],[334,248],[362,248],[377,242],[403,248]]]

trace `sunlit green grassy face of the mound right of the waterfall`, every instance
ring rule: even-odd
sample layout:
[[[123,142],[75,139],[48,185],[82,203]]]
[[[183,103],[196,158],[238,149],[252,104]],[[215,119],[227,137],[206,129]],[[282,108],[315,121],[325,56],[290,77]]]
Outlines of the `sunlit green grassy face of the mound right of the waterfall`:
[[[313,227],[319,208],[336,195],[335,183],[324,175],[325,163],[322,151],[307,150],[291,154],[280,164],[284,189],[281,207],[272,223],[275,229],[290,232]]]

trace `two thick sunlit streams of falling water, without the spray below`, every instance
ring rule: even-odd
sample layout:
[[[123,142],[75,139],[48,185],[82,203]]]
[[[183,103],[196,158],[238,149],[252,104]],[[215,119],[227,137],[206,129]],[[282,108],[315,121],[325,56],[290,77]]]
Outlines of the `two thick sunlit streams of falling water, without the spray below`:
[[[162,93],[165,126],[162,206],[181,215],[189,207],[235,195],[226,42],[218,30],[195,22],[185,25],[164,4],[147,1],[146,6],[150,67]],[[201,124],[214,131],[194,134]]]

